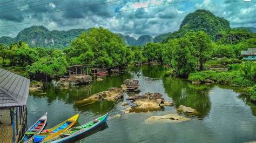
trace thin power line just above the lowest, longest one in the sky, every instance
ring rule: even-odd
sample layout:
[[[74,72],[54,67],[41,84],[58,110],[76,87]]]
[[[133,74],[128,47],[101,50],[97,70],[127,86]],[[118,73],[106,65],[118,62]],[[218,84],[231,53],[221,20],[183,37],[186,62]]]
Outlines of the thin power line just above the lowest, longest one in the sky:
[[[69,10],[83,9],[83,8],[87,8],[87,7],[90,7],[90,6],[97,6],[97,5],[102,5],[102,4],[114,3],[114,2],[120,2],[120,0],[118,0],[118,1],[111,1],[111,2],[105,2],[105,3],[99,3],[99,4],[93,4],[93,5],[85,5],[85,6],[80,6],[80,7],[71,8],[71,9],[64,9],[64,10],[58,10],[58,11],[52,11],[52,12],[45,12],[43,14],[36,14],[36,15],[29,15],[29,16],[24,16],[24,17],[16,17],[16,18],[4,19],[4,20],[1,20],[1,21],[10,21],[10,20],[19,19],[19,18],[46,15],[46,14],[49,14],[49,13],[57,13],[57,12],[63,12],[63,11],[69,11]]]

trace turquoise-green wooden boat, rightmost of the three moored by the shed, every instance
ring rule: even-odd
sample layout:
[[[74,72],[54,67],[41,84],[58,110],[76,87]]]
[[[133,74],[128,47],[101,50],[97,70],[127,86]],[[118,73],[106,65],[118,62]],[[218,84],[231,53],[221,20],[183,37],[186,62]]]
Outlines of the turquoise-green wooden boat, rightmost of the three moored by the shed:
[[[98,126],[104,124],[107,120],[107,116],[109,113],[106,113],[102,117],[99,117],[95,120],[92,120],[90,122],[87,122],[84,125],[78,126],[78,127],[73,127],[70,130],[60,134],[58,137],[55,139],[51,140],[51,142],[66,142],[70,141],[71,139],[74,139],[78,137],[81,134],[88,133],[92,130],[95,130]]]

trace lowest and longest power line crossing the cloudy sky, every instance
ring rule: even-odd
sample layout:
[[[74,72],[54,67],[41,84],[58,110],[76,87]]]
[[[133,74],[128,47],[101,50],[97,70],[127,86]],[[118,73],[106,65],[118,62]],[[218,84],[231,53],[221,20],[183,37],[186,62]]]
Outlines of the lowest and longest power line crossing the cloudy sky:
[[[165,4],[158,4],[158,5],[152,5],[152,6],[145,6],[145,7],[142,7],[142,8],[134,8],[134,9],[127,9],[127,10],[97,13],[97,14],[86,15],[86,16],[82,16],[82,17],[69,17],[69,18],[53,19],[51,21],[39,21],[39,22],[29,22],[29,23],[22,23],[22,24],[3,25],[3,26],[0,26],[0,28],[9,27],[9,26],[17,26],[17,25],[36,24],[36,23],[42,23],[42,22],[62,21],[62,20],[65,20],[65,19],[73,19],[73,18],[85,18],[85,17],[90,17],[90,16],[105,15],[105,14],[110,14],[110,13],[132,11],[132,10],[137,10],[137,9],[153,8],[153,7],[156,7],[156,6],[163,6],[163,5],[169,5],[169,4],[181,3],[181,2],[188,2],[188,1],[190,1],[190,0],[179,1],[179,2],[171,2],[171,3],[165,3]]]

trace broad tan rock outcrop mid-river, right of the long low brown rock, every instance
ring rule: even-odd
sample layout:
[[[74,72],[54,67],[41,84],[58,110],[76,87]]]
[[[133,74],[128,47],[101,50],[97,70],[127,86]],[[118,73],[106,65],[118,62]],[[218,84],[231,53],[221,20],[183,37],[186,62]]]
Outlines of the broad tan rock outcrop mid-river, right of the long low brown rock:
[[[160,110],[164,106],[173,106],[174,103],[171,101],[166,101],[160,93],[144,93],[141,96],[134,95],[130,96],[126,100],[130,100],[136,106],[132,107],[130,112],[145,112]]]

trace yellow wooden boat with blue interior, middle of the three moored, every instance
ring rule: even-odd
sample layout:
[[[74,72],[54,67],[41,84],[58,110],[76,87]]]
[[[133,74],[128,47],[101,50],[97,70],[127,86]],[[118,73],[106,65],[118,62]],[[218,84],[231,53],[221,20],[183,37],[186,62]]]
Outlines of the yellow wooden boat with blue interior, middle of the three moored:
[[[73,117],[69,118],[61,122],[60,124],[52,127],[48,130],[43,130],[40,134],[35,135],[33,137],[34,142],[49,142],[49,140],[58,137],[59,134],[69,130],[71,127],[75,126],[77,120],[79,118],[79,114],[74,115]]]

